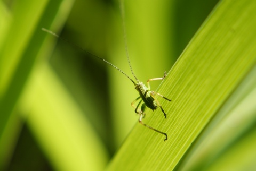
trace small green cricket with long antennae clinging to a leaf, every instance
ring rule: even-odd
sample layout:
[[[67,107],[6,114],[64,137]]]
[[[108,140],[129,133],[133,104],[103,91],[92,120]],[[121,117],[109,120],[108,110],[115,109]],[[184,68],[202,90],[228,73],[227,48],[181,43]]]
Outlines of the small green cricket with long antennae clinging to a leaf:
[[[164,72],[164,76],[161,77],[161,78],[153,78],[153,79],[148,79],[147,80],[147,86],[138,80],[138,78],[135,76],[133,70],[132,70],[132,66],[131,66],[131,63],[130,63],[130,57],[129,57],[129,53],[128,53],[128,48],[127,48],[127,39],[126,39],[126,29],[125,29],[125,22],[124,22],[124,7],[122,5],[122,3],[120,2],[120,10],[121,10],[121,16],[122,16],[122,26],[123,26],[123,34],[124,34],[124,45],[125,45],[125,53],[126,53],[126,58],[127,58],[127,61],[128,61],[128,64],[129,64],[129,67],[130,67],[130,70],[131,70],[131,73],[133,75],[133,78],[135,79],[135,81],[133,79],[130,78],[130,76],[128,76],[126,73],[124,73],[121,69],[119,69],[117,66],[115,66],[114,64],[106,61],[105,59],[97,56],[97,55],[94,55],[90,52],[87,52],[84,48],[82,47],[79,47],[71,42],[69,42],[68,40],[60,37],[59,35],[57,35],[56,33],[54,33],[53,31],[51,30],[48,30],[48,29],[45,29],[45,28],[42,28],[43,31],[47,32],[47,33],[50,33],[51,35],[53,35],[54,37],[57,37],[58,39],[62,40],[62,41],[65,41],[67,42],[68,44],[82,50],[83,52],[86,52],[88,54],[90,54],[91,56],[93,57],[96,57],[98,59],[100,59],[101,61],[107,63],[108,65],[110,66],[113,66],[116,70],[118,70],[119,72],[121,72],[123,75],[126,76],[126,78],[128,78],[129,80],[131,80],[131,82],[133,83],[134,85],[134,88],[139,92],[139,97],[136,98],[135,100],[132,101],[131,103],[131,106],[133,108],[135,108],[135,113],[138,114],[140,117],[139,117],[139,123],[148,127],[149,129],[153,130],[153,131],[156,131],[158,133],[161,133],[163,135],[165,135],[165,139],[164,141],[166,141],[168,139],[168,136],[166,133],[162,132],[162,131],[159,131],[145,123],[142,122],[142,119],[145,117],[145,109],[146,107],[152,109],[153,111],[157,109],[157,107],[161,108],[163,114],[164,114],[164,117],[167,118],[165,112],[164,112],[164,109],[162,107],[162,105],[159,103],[159,101],[156,99],[156,95],[157,96],[160,96],[162,98],[164,98],[165,100],[168,100],[168,101],[171,101],[171,99],[168,99],[166,97],[164,97],[163,95],[161,95],[160,93],[158,92],[155,92],[153,90],[150,90],[150,81],[156,81],[156,80],[164,80],[164,78],[166,77],[166,72]],[[135,103],[138,102],[138,105],[135,107]],[[142,103],[142,104],[141,104]],[[141,105],[141,108],[139,109]]]

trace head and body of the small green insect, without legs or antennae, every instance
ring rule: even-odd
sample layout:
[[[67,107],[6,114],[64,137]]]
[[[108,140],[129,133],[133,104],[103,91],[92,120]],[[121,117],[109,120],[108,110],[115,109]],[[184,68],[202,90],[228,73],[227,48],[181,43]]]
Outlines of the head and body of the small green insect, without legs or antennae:
[[[151,91],[145,86],[145,84],[143,84],[142,82],[138,82],[135,86],[135,89],[139,91],[141,99],[148,108],[152,110],[155,110],[157,108],[156,101],[151,96]]]

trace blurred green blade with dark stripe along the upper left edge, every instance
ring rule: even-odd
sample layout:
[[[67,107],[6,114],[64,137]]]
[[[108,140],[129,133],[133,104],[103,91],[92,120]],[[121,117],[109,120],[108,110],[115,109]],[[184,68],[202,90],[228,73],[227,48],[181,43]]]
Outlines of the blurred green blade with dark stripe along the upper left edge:
[[[18,115],[13,113],[25,87],[26,81],[42,50],[45,35],[41,27],[52,24],[63,4],[71,1],[17,1],[5,18],[9,25],[1,30],[0,49],[0,167],[4,167],[12,154],[15,144],[13,136],[18,136]],[[47,4],[49,3],[49,4]],[[1,3],[2,7],[3,4]],[[61,8],[62,7],[62,8]],[[7,9],[7,6],[6,6]],[[43,16],[44,15],[44,16]],[[49,15],[52,17],[49,18]],[[65,15],[60,18],[65,17]],[[63,21],[60,19],[60,21]],[[60,24],[60,23],[58,23]],[[3,32],[2,32],[3,31]]]

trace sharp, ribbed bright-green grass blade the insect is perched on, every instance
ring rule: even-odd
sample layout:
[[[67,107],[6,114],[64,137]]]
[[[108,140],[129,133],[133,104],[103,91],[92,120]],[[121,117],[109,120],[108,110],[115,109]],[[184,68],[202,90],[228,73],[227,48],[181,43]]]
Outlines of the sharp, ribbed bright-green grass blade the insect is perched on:
[[[109,170],[172,170],[256,62],[254,1],[221,1],[167,75],[159,99],[167,113],[146,110]],[[147,119],[149,118],[149,119]]]

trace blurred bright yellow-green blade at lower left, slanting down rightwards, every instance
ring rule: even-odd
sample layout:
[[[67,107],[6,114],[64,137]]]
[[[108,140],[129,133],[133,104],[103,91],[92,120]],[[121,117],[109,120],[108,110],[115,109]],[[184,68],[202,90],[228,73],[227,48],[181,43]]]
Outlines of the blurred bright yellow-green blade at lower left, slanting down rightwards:
[[[55,170],[102,170],[106,166],[107,150],[47,64],[33,73],[21,108],[22,113],[29,113],[28,126]]]

